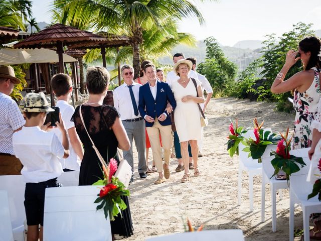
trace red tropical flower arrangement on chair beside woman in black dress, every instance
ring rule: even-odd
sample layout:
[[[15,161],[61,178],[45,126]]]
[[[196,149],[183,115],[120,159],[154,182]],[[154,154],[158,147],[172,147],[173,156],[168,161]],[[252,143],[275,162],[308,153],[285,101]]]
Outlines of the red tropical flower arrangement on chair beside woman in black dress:
[[[118,213],[121,215],[121,210],[127,208],[127,205],[120,196],[129,196],[129,191],[126,190],[124,184],[117,177],[113,176],[117,170],[117,161],[115,159],[111,158],[108,166],[105,164],[102,167],[104,179],[100,179],[92,184],[103,186],[100,188],[94,203],[101,202],[96,210],[103,209],[106,219],[109,214],[109,219],[113,221]]]

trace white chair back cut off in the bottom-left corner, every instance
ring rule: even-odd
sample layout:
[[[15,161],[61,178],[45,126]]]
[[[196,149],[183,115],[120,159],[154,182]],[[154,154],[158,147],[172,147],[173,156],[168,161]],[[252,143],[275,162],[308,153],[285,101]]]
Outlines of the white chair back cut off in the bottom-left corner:
[[[14,241],[9,211],[8,193],[0,190],[0,241]]]

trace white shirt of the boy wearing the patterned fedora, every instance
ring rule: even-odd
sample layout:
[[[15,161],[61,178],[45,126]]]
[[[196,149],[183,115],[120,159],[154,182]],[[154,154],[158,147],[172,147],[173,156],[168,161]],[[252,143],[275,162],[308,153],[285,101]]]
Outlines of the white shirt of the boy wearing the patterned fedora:
[[[62,174],[59,159],[65,151],[55,133],[39,127],[23,127],[14,133],[13,146],[16,157],[24,165],[21,174],[26,182],[45,182]]]

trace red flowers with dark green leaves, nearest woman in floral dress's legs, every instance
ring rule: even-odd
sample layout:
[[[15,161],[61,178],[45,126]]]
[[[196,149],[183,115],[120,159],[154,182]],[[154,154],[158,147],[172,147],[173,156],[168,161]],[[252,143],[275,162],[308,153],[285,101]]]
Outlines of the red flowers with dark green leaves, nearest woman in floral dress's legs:
[[[285,135],[280,133],[282,139],[278,141],[276,151],[271,151],[270,155],[274,156],[274,159],[271,160],[271,164],[274,167],[274,175],[277,175],[278,172],[281,170],[286,174],[286,180],[289,180],[289,176],[292,173],[298,172],[301,167],[305,166],[306,164],[303,162],[301,157],[295,157],[290,155],[291,150],[291,140],[293,135],[288,138],[289,129],[286,130]],[[272,178],[271,177],[271,178]]]

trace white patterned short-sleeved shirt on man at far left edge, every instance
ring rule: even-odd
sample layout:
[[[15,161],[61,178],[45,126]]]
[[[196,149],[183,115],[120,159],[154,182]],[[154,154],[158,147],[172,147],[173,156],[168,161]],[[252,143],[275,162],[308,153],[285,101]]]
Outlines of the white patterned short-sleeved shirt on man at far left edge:
[[[0,109],[0,153],[15,155],[12,135],[26,122],[17,103],[2,92],[0,92]]]

